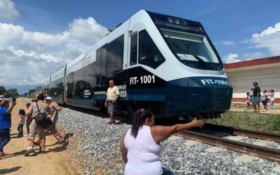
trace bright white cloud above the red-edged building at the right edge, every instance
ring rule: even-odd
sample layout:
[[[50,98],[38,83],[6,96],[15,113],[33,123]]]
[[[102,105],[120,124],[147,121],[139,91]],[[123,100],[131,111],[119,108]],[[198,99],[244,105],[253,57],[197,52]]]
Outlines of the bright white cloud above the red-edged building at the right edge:
[[[254,33],[250,48],[267,48],[273,56],[280,55],[280,22],[261,33]]]

